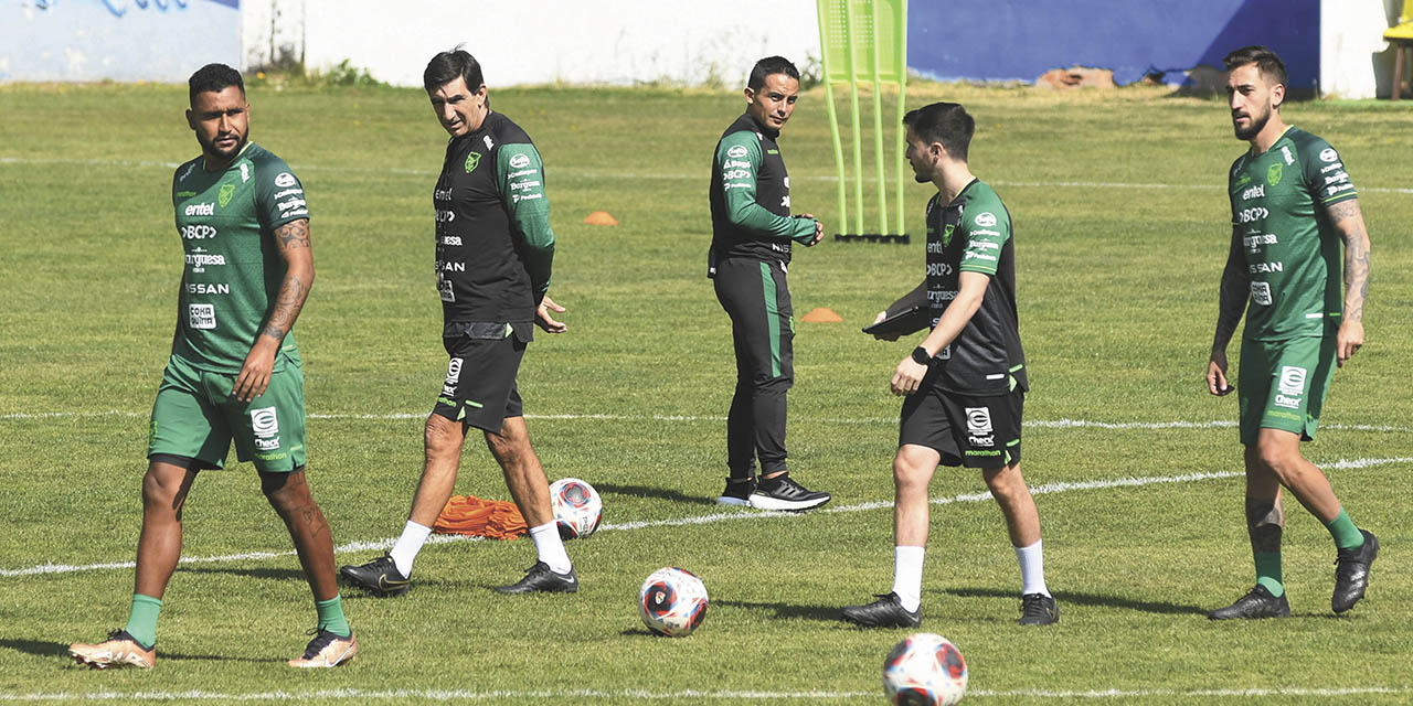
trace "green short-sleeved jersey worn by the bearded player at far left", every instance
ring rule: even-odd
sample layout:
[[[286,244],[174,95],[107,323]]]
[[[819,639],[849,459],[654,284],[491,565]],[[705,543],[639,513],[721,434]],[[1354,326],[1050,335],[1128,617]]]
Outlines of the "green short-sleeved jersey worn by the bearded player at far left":
[[[209,371],[239,373],[271,302],[285,264],[274,229],[308,219],[304,186],[284,160],[246,144],[220,172],[205,158],[182,164],[172,178],[177,234],[187,257],[172,354]],[[294,332],[284,336],[276,370],[300,361]]]

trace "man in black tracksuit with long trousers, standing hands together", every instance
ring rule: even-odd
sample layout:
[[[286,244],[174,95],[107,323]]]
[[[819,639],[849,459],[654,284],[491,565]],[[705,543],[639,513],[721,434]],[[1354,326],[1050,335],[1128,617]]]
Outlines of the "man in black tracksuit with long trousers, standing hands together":
[[[814,216],[790,216],[790,176],[776,138],[794,112],[800,72],[781,56],[756,62],[746,113],[716,144],[711,175],[708,277],[731,315],[736,394],[726,419],[726,505],[808,510],[829,501],[786,472],[786,391],[794,383],[794,316],[786,268],[791,241],[824,237]],[[755,477],[760,459],[760,480]]]

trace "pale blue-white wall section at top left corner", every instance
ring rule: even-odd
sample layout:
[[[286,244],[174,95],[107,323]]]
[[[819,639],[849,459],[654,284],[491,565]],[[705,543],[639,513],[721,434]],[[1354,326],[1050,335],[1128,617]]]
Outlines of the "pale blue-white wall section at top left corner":
[[[0,80],[184,82],[237,65],[239,0],[0,1]]]

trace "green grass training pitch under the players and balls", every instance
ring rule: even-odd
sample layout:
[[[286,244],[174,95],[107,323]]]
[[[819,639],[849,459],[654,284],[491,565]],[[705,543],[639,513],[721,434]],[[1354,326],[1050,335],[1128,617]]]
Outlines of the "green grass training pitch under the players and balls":
[[[976,473],[941,470],[923,628],[968,658],[968,702],[1413,700],[1407,110],[1286,109],[1341,150],[1373,241],[1368,345],[1335,376],[1306,446],[1382,539],[1369,596],[1331,614],[1332,544],[1289,501],[1293,616],[1214,624],[1205,611],[1253,582],[1236,400],[1202,383],[1225,169],[1245,147],[1224,103],[910,88],[910,104],[940,99],[976,116],[972,169],[1015,217],[1033,384],[1024,469],[1044,490],[1061,606],[1051,628],[1015,624],[1000,514],[976,497]],[[493,90],[544,155],[551,295],[569,309],[569,332],[541,335],[521,369],[531,435],[551,479],[589,480],[606,507],[608,527],[568,545],[578,594],[487,590],[534,561],[527,539],[428,545],[407,597],[345,596],[362,645],[352,666],[295,674],[283,662],[314,624],[309,592],[254,473],[235,465],[203,474],[187,504],[191,561],[167,592],[157,669],[71,665],[69,642],[127,616],[147,414],[182,267],[171,172],[198,151],[185,102],[184,86],[0,86],[0,700],[882,702],[880,665],[904,631],[853,630],[836,610],[890,586],[899,400],[886,385],[916,343],[858,329],[921,278],[930,186],[909,185],[911,244],[827,240],[791,265],[796,315],[845,319],[800,323],[790,398],[796,477],[835,500],[794,517],[718,510],[735,373],[704,277],[706,181],[740,99],[704,92]],[[445,371],[431,271],[445,133],[418,90],[252,86],[250,102],[252,138],[309,193],[318,281],[297,326],[309,479],[338,561],[362,562],[406,520]],[[820,90],[803,97],[781,147],[796,210],[834,233],[822,103]],[[582,225],[599,209],[622,225]],[[479,442],[456,491],[507,497]],[[636,614],[640,582],[664,565],[711,592],[685,640],[650,637]]]

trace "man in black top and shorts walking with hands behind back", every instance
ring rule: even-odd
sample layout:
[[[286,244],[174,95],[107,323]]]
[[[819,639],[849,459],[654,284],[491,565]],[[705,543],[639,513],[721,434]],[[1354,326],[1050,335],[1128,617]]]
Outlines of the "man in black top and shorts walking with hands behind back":
[[[564,308],[545,295],[554,232],[544,165],[530,136],[490,110],[480,64],[471,54],[438,54],[422,83],[451,136],[432,189],[447,381],[427,418],[425,465],[403,534],[386,555],[341,573],[377,596],[408,592],[413,561],[451,498],[462,445],[475,428],[530,525],[538,559],[523,579],[495,590],[574,593],[579,580],[555,527],[550,483],[530,445],[516,385],[531,322],[550,333],[567,329],[550,313]]]

